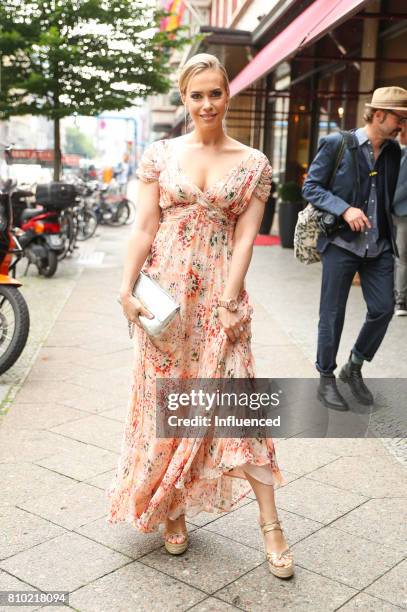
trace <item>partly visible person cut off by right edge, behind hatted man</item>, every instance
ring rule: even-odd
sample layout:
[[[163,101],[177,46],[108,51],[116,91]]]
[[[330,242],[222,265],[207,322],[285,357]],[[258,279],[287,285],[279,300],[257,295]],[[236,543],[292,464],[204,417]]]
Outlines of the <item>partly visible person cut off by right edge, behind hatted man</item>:
[[[395,261],[396,316],[407,315],[407,124],[403,125],[399,138],[402,145],[400,173],[393,201],[393,221],[399,256]]]

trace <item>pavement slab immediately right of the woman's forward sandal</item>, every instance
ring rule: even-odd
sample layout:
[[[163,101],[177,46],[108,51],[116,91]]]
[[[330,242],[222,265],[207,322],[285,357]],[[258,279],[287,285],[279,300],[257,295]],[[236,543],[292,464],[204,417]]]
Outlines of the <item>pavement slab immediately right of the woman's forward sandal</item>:
[[[324,527],[293,546],[301,567],[357,590],[370,585],[403,558],[403,553],[354,534]]]

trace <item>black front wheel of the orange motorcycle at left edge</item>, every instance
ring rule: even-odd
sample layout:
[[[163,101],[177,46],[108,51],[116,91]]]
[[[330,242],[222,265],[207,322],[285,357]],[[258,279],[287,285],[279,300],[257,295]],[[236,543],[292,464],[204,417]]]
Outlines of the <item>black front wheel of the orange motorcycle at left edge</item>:
[[[30,329],[27,303],[17,287],[0,285],[0,374],[20,357]]]

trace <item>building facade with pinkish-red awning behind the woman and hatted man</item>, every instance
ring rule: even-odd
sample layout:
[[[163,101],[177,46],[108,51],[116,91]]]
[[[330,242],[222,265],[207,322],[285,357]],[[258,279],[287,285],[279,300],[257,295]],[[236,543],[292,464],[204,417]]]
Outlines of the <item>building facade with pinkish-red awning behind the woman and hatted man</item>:
[[[205,38],[177,58],[178,65],[201,51],[225,64],[233,95],[228,133],[264,151],[278,182],[301,184],[319,138],[361,125],[364,104],[376,87],[407,88],[404,0],[187,0],[184,5],[184,19],[187,15]],[[202,6],[204,13],[198,13]],[[183,131],[182,107],[170,112],[172,121],[168,115],[160,137]]]

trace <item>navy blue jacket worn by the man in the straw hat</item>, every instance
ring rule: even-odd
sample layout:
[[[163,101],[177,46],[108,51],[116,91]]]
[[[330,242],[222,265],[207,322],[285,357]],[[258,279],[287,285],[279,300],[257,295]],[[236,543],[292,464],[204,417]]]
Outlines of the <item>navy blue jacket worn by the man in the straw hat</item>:
[[[342,215],[349,206],[358,206],[356,202],[356,169],[352,152],[345,148],[341,163],[339,164],[333,185],[329,189],[329,180],[335,163],[336,151],[341,139],[339,132],[328,134],[321,138],[317,154],[309,167],[308,176],[303,186],[303,197],[316,208],[325,210],[334,215]],[[395,141],[386,147],[386,201],[385,209],[389,227],[392,231],[391,244],[394,253],[397,253],[393,223],[390,209],[396,188],[400,165],[400,147]],[[348,228],[349,229],[349,228]],[[346,229],[342,233],[348,233]],[[355,234],[356,232],[352,232]],[[318,241],[318,250],[323,251],[333,237],[322,236]]]

